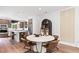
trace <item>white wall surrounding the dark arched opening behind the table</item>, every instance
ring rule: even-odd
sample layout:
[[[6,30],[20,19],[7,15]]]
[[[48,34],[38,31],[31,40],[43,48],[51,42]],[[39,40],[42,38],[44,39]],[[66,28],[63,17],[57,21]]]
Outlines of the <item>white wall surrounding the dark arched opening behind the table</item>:
[[[52,21],[52,34],[60,36],[60,12],[54,11],[43,15],[33,17],[33,33],[40,33],[41,22],[43,19],[49,19]]]

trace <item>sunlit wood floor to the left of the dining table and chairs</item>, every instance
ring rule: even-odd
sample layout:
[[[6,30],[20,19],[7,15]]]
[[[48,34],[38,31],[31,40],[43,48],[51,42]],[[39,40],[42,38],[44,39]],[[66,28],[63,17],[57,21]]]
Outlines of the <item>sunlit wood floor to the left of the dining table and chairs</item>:
[[[10,38],[0,38],[0,53],[23,53],[23,43],[13,43]]]

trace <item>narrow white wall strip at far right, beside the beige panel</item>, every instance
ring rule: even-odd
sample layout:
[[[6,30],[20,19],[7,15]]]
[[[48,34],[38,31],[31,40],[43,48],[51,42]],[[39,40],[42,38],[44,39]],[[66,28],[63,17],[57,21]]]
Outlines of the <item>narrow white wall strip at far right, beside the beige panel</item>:
[[[75,7],[75,44],[79,46],[79,7]]]

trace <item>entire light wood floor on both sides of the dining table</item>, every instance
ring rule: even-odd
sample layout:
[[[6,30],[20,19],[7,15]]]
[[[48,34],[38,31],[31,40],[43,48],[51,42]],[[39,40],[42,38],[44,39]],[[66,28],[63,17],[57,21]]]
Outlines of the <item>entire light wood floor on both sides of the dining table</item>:
[[[79,53],[79,48],[64,44],[58,45],[59,50],[54,53]],[[11,38],[0,38],[0,53],[24,53],[24,43],[11,41]]]

